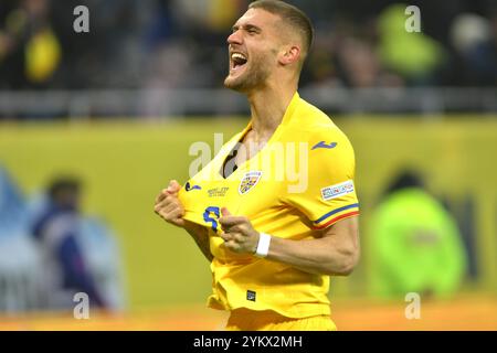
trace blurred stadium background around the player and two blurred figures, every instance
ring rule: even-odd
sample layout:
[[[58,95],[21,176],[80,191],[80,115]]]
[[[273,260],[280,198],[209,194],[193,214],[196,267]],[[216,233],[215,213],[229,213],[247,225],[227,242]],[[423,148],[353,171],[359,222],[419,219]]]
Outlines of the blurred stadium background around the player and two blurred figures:
[[[247,119],[222,88],[225,39],[246,0],[2,0],[0,3],[0,330],[215,330],[211,275],[154,199],[184,182],[191,143],[226,140]],[[294,0],[316,26],[300,93],[329,113],[357,157],[362,260],[334,278],[343,330],[497,329],[497,2]],[[89,9],[75,33],[73,9]],[[408,6],[422,31],[404,29]],[[457,223],[457,289],[388,298],[376,276],[371,220],[403,168]],[[108,309],[75,320],[36,298],[30,222],[57,175],[83,183],[81,243]],[[403,264],[399,264],[399,267]],[[443,267],[443,263],[441,263]],[[413,264],[415,270],[416,264]],[[443,268],[442,268],[443,271]]]

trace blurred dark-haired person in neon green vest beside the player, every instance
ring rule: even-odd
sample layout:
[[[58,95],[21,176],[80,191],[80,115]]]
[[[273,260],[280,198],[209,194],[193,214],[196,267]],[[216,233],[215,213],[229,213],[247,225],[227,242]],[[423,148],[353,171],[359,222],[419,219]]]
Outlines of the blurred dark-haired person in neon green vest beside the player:
[[[459,229],[417,173],[406,170],[393,181],[371,217],[370,236],[372,295],[437,298],[459,289],[467,269]]]

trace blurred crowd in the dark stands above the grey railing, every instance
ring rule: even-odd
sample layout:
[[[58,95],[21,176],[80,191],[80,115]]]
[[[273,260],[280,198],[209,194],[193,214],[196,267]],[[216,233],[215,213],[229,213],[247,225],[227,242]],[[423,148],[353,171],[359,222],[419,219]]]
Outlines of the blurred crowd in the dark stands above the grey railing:
[[[220,87],[248,0],[2,0],[0,89]],[[495,0],[293,0],[316,28],[302,86],[496,86]],[[75,33],[75,7],[89,33]]]

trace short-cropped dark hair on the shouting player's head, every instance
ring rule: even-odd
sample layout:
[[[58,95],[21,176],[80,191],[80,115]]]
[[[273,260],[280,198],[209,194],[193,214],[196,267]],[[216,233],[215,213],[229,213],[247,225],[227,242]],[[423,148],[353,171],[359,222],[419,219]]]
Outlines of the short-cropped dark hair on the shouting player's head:
[[[309,18],[293,4],[279,0],[257,0],[248,4],[248,9],[263,9],[279,15],[284,21],[293,25],[304,40],[304,50],[309,52],[313,45],[314,29]]]

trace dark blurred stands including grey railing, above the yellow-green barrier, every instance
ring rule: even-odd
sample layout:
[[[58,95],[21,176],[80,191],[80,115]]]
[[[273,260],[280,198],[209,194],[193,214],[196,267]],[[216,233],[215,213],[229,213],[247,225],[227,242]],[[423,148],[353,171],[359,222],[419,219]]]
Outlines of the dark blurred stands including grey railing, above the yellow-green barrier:
[[[243,99],[219,88],[225,40],[247,2],[4,0],[0,116],[246,113]],[[411,1],[420,33],[404,30],[408,4],[399,1],[293,3],[316,28],[302,90],[329,111],[497,110],[496,1]],[[89,33],[73,30],[78,4],[89,10]]]

